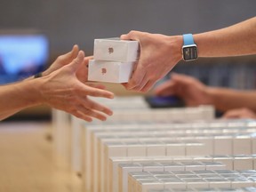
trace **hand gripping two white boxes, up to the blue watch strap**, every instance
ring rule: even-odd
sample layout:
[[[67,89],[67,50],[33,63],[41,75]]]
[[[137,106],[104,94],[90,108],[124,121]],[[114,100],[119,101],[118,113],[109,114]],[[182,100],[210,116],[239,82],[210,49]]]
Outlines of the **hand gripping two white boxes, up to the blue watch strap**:
[[[181,60],[182,36],[164,36],[140,31],[122,35],[123,40],[140,43],[140,59],[131,79],[123,84],[127,90],[148,92],[158,80]]]

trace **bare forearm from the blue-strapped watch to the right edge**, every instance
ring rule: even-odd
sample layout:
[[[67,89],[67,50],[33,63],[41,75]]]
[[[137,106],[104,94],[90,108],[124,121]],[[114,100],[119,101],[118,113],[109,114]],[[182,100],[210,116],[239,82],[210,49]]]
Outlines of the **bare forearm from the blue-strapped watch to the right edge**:
[[[256,53],[256,17],[228,28],[194,35],[199,57],[226,57]]]

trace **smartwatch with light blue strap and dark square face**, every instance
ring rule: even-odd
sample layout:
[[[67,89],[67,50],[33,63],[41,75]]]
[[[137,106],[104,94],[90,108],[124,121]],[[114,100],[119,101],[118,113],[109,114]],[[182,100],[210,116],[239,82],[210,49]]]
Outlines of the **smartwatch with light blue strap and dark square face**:
[[[183,35],[182,58],[185,61],[197,59],[197,47],[192,34]]]

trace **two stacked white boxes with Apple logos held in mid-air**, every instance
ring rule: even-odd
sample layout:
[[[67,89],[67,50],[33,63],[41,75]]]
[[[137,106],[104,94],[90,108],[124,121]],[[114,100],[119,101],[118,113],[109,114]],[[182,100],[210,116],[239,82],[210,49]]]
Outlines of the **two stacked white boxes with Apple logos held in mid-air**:
[[[93,59],[89,60],[88,80],[126,83],[139,57],[139,42],[119,38],[95,39]]]

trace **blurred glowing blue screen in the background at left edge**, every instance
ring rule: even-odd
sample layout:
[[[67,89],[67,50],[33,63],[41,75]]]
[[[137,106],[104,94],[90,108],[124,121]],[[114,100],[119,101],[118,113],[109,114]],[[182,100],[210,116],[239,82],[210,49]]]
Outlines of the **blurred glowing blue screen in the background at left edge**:
[[[49,41],[42,34],[0,33],[0,84],[20,81],[44,70]]]

